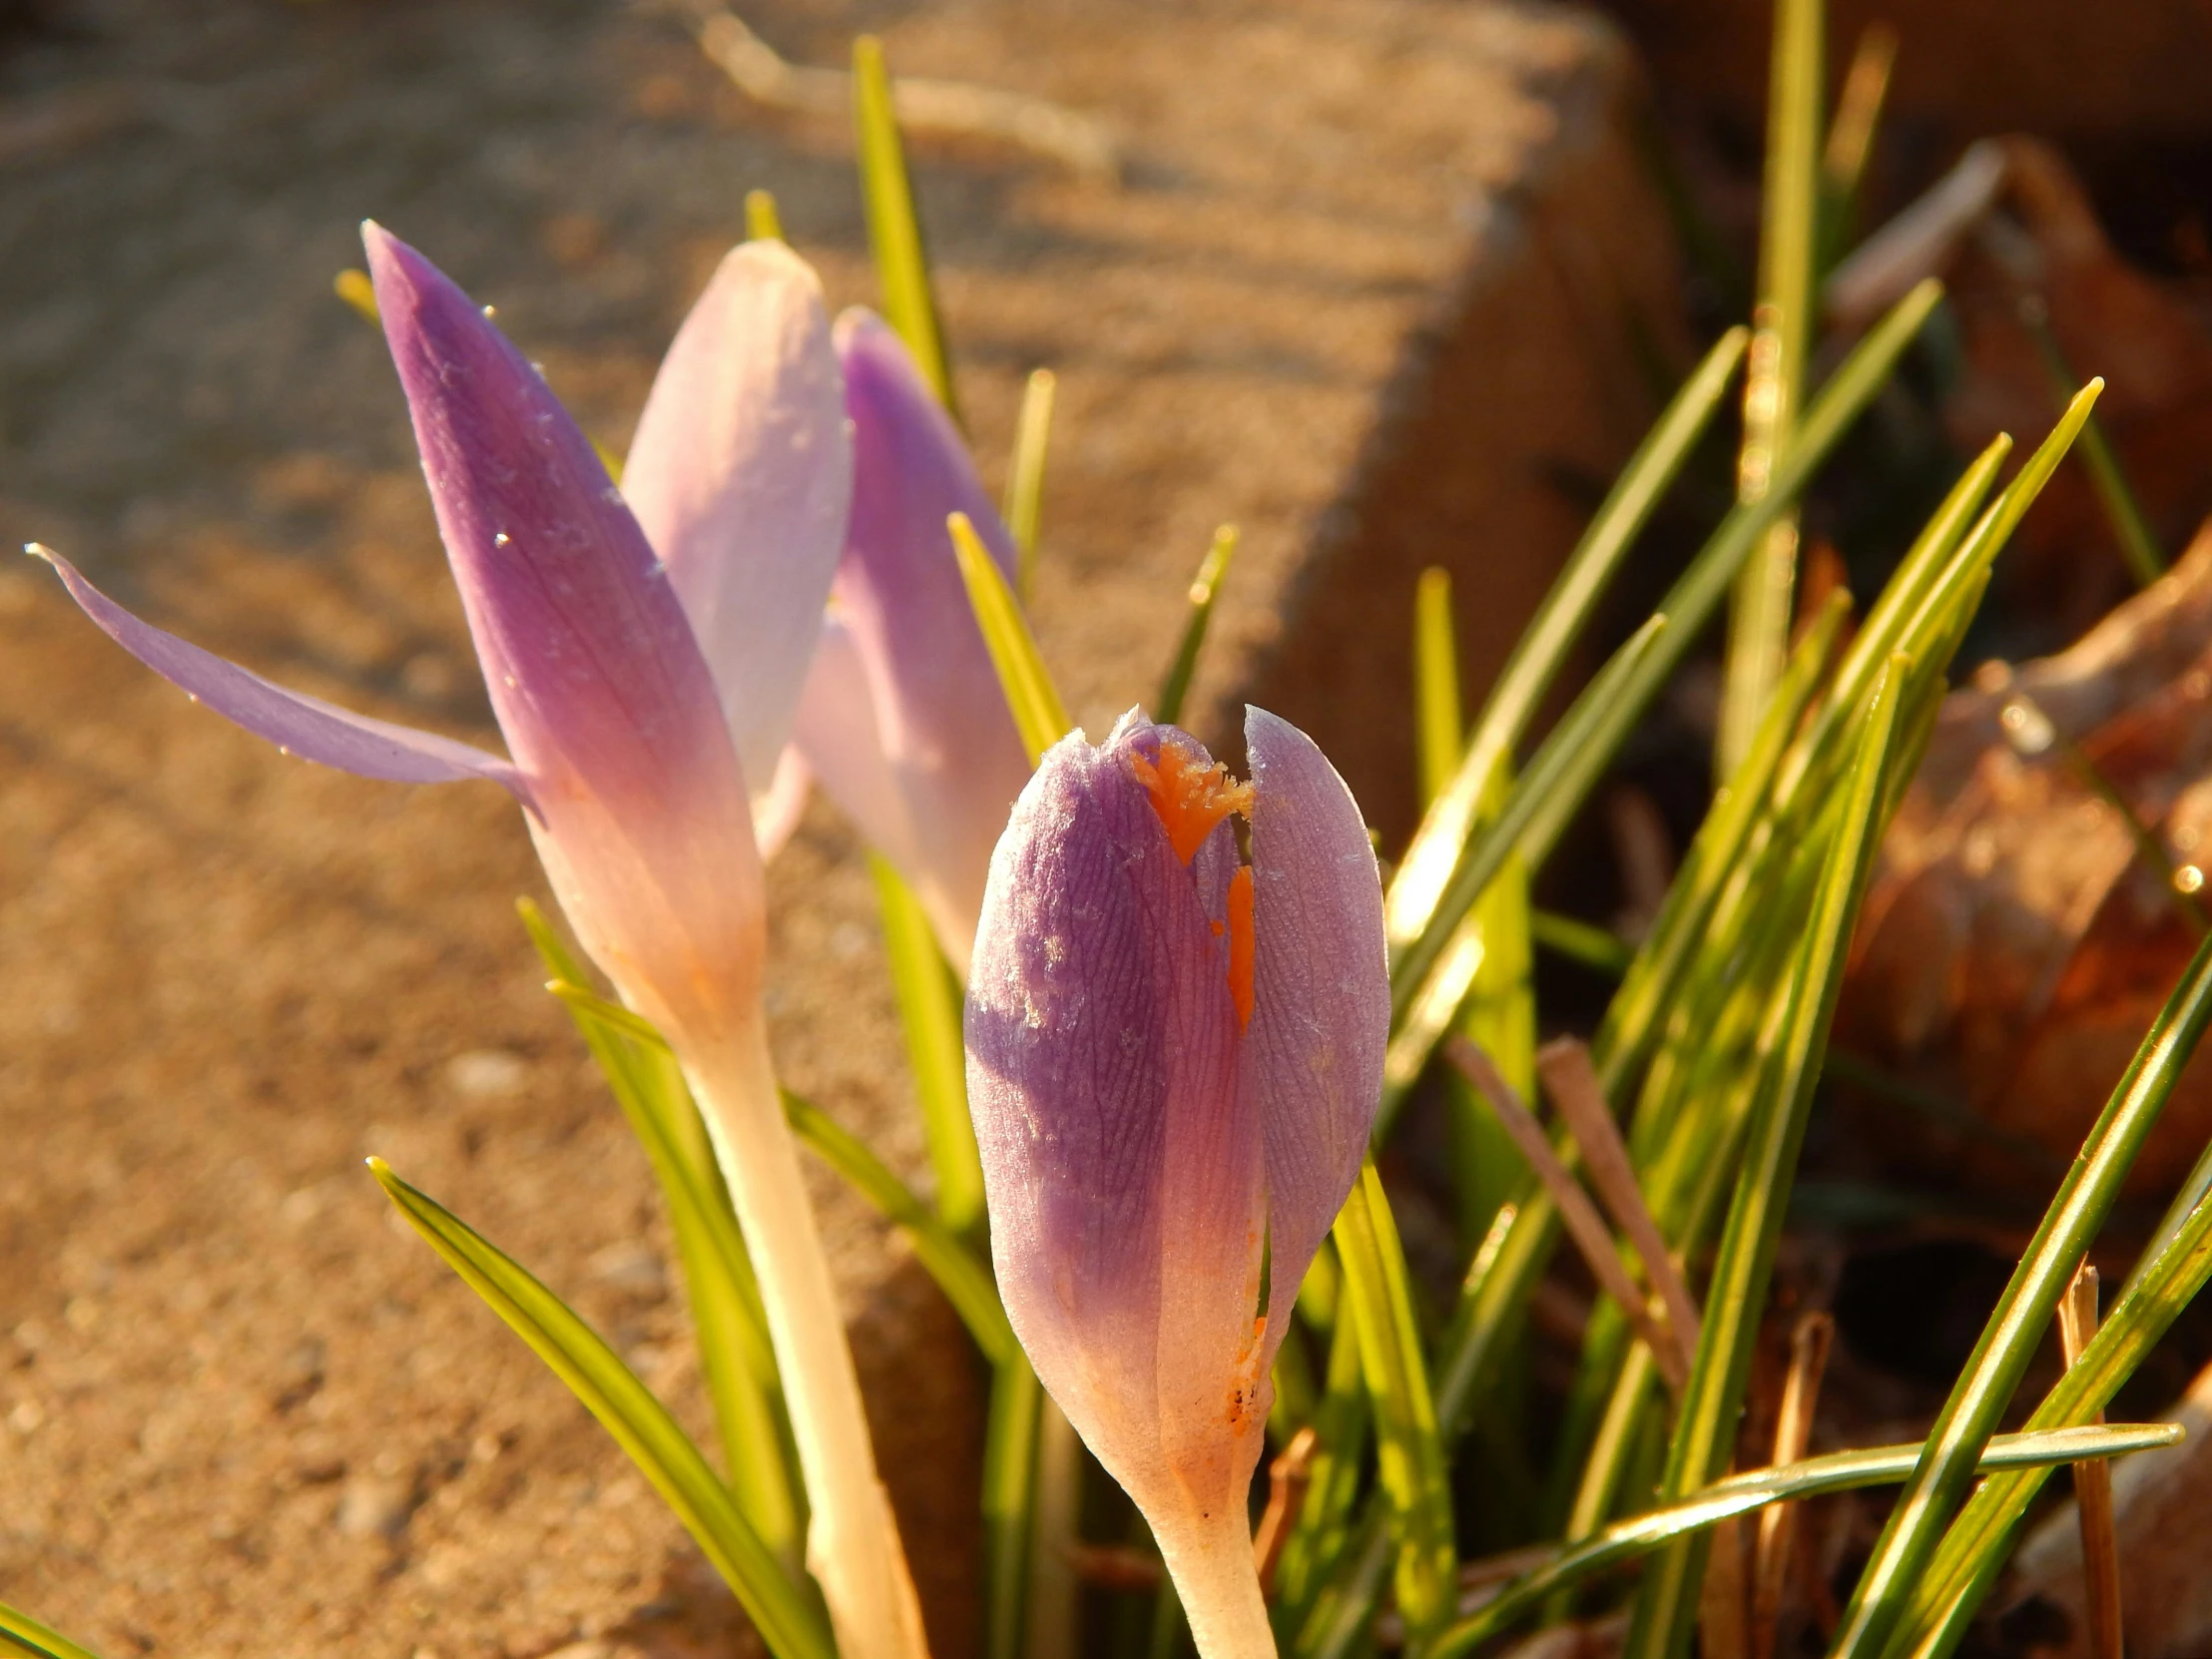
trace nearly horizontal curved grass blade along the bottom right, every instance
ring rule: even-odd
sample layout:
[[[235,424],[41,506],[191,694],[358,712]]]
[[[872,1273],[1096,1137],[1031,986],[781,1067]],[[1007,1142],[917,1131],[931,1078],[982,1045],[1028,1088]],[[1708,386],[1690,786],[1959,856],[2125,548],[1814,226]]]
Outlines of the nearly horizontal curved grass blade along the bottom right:
[[[2174,1422],[2128,1422],[2112,1427],[2057,1429],[2046,1433],[1997,1436],[1982,1451],[1980,1471],[2055,1469],[2081,1458],[2124,1458],[2130,1451],[2154,1451],[2181,1440]],[[1860,1486],[1885,1486],[1913,1471],[1922,1447],[1869,1447],[1867,1451],[1834,1451],[1825,1458],[1759,1469],[1705,1486],[1694,1498],[1646,1511],[1632,1520],[1606,1526],[1551,1562],[1513,1579],[1478,1613],[1444,1630],[1422,1659],[1455,1659],[1482,1641],[1511,1630],[1555,1593],[1582,1579],[1648,1555],[1663,1544],[1719,1526],[1723,1520],[1750,1515],[1767,1504],[1820,1498]]]

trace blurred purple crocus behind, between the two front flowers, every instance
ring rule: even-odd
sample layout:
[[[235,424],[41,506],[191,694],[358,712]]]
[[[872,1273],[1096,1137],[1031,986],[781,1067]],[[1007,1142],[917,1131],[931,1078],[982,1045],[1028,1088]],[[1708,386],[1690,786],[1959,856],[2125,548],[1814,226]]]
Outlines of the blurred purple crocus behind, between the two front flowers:
[[[914,883],[964,973],[991,847],[1029,781],[945,520],[967,513],[1006,580],[1013,538],[898,336],[836,323],[854,431],[852,522],[796,743],[823,790]]]

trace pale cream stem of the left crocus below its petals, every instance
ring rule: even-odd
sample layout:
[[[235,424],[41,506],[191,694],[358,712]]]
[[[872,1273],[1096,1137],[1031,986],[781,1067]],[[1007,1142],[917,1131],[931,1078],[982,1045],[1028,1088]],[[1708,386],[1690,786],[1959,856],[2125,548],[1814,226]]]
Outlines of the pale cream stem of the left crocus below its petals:
[[[860,1409],[836,1285],[799,1172],[799,1148],[752,1022],[681,1053],[761,1281],[807,1482],[807,1568],[823,1586],[841,1659],[927,1659],[922,1610]]]

